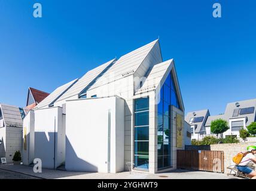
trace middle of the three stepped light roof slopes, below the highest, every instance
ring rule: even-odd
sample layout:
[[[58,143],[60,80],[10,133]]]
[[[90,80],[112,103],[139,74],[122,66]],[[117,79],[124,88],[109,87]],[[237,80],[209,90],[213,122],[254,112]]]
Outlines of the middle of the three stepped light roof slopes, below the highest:
[[[88,85],[90,85],[90,83],[93,80],[95,80],[102,72],[104,72],[106,67],[108,67],[110,64],[112,64],[114,61],[115,61],[115,59],[110,60],[110,61],[96,67],[95,69],[92,69],[89,72],[87,72],[82,78],[80,78],[78,80],[77,83],[75,83],[71,88],[69,88],[69,90],[66,91],[65,94],[60,96],[60,98],[58,98],[57,101],[65,100],[66,98],[80,94],[84,90],[84,88],[86,88]]]

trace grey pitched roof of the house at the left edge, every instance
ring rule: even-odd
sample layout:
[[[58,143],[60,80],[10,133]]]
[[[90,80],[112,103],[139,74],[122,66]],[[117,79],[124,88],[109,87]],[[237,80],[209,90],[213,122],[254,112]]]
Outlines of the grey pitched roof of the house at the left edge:
[[[7,104],[0,104],[2,108],[2,116],[7,127],[22,127],[22,115],[20,114],[19,107],[10,106]]]

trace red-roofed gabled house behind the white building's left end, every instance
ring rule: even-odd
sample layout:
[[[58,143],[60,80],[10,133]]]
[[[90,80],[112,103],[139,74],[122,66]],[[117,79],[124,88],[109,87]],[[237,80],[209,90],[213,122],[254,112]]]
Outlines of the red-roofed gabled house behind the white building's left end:
[[[26,107],[24,108],[25,112],[28,113],[30,109],[33,109],[35,106],[37,106],[37,104],[39,104],[47,96],[49,96],[49,93],[45,93],[44,91],[29,87],[27,103]]]

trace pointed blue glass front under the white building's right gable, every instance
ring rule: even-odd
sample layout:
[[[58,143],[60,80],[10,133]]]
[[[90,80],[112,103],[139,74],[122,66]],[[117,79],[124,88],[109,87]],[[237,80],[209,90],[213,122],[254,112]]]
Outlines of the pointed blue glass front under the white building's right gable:
[[[170,106],[181,109],[176,93],[173,76],[170,73],[160,90],[160,102],[157,105],[157,168],[171,167]]]

